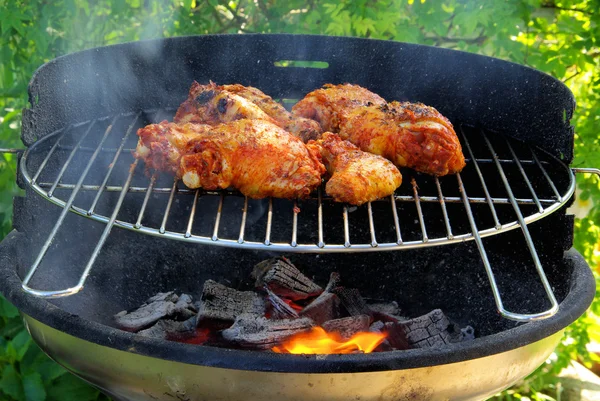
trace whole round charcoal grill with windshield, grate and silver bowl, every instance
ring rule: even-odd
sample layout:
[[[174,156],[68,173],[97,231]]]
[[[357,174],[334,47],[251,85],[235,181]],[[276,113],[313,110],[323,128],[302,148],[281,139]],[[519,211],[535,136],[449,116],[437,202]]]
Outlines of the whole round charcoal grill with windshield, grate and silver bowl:
[[[279,63],[297,59],[329,68]],[[454,123],[467,167],[441,178],[403,170],[393,196],[360,207],[333,202],[324,188],[297,201],[189,190],[147,171],[132,150],[136,130],[171,119],[194,79],[256,86],[287,105],[326,82],[419,100]],[[593,299],[565,209],[574,174],[598,170],[569,168],[573,99],[537,71],[402,43],[224,35],[66,56],[42,67],[29,90],[18,176],[26,196],[0,244],[0,290],[49,355],[116,399],[483,399],[542,363]],[[396,299],[409,316],[442,307],[479,338],[323,358],[110,327],[115,313],[158,291],[194,293],[206,279],[243,288],[254,263],[281,254],[319,282],[340,271],[348,286]]]

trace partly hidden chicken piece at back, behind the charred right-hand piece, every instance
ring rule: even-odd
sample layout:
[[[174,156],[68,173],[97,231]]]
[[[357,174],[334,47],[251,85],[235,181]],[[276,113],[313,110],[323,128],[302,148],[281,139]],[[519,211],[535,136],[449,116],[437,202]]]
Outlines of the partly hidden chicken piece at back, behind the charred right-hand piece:
[[[385,103],[382,97],[358,85],[326,84],[296,103],[292,114],[316,120],[323,131],[338,132],[347,115],[357,107]]]

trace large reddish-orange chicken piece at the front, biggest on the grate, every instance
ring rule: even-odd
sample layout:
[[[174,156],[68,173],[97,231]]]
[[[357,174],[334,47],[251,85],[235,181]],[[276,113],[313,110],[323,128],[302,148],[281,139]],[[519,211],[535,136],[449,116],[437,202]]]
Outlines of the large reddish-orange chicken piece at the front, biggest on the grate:
[[[264,120],[237,120],[192,139],[180,170],[189,188],[230,186],[250,198],[305,198],[320,183],[320,155]]]

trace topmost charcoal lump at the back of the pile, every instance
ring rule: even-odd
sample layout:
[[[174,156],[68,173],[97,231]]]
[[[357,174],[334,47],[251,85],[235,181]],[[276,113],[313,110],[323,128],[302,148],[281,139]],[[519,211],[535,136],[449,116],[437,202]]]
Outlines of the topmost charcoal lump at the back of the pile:
[[[300,272],[287,258],[273,258],[254,266],[256,287],[268,287],[278,296],[297,301],[315,297],[323,289]]]

